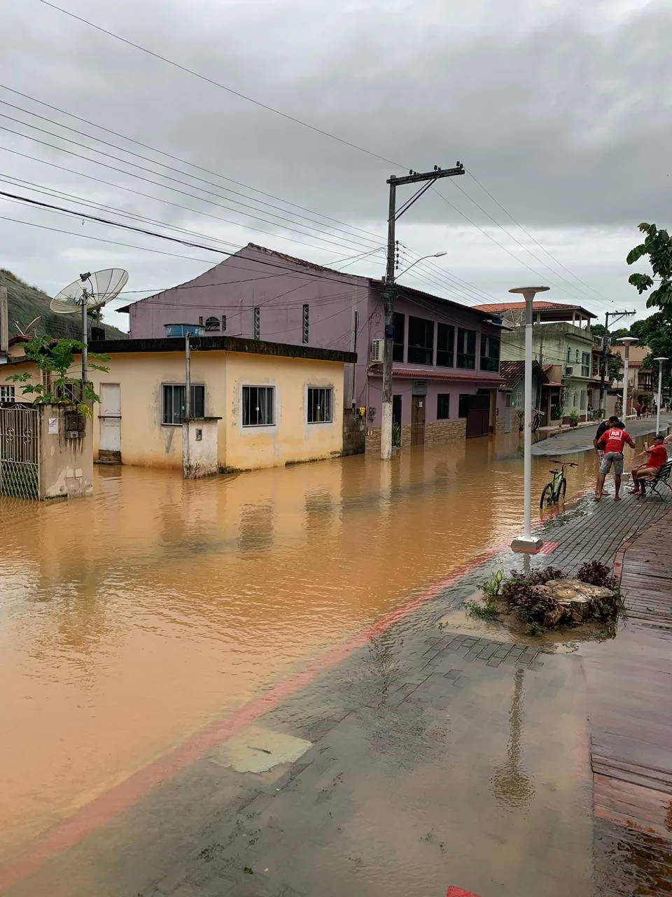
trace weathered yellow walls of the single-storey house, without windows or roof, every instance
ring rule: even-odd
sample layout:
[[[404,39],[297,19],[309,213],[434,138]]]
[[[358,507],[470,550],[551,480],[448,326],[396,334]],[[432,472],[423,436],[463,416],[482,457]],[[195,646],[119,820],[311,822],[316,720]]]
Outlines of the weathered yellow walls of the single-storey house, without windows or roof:
[[[90,371],[94,388],[118,383],[121,388],[121,457],[124,464],[182,467],[182,428],[162,420],[161,386],[185,382],[184,353],[115,354],[107,373]],[[24,365],[0,368],[0,383]],[[77,377],[78,368],[73,369]],[[334,361],[278,358],[248,353],[192,353],[192,384],[205,385],[206,416],[221,417],[220,466],[253,469],[339,455],[343,440],[343,365]],[[242,389],[274,386],[275,424],[244,427]],[[333,421],[307,423],[307,388],[333,389]],[[16,398],[21,385],[16,384]],[[93,409],[93,449],[98,457],[99,405]]]

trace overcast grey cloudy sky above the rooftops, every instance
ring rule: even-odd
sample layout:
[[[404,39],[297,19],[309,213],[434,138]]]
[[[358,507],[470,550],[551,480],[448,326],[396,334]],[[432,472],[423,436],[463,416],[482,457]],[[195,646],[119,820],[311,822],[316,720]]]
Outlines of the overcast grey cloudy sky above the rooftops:
[[[55,3],[371,154],[40,0],[4,0],[0,188],[218,250],[0,201],[0,266],[47,292],[124,266],[134,300],[248,241],[322,264],[371,252],[347,270],[380,276],[385,180],[460,160],[468,173],[399,222],[402,266],[447,253],[406,283],[473,304],[539,282],[600,318],[643,312],[625,254],[639,222],[670,223],[667,2]]]

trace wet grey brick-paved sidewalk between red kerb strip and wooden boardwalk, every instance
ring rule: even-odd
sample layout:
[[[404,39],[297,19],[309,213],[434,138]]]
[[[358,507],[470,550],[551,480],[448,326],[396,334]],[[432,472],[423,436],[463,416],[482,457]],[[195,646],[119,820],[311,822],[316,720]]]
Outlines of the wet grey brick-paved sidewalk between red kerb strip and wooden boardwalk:
[[[584,500],[532,563],[611,562],[668,509]],[[582,657],[437,627],[520,563],[491,559],[8,893],[591,897]]]

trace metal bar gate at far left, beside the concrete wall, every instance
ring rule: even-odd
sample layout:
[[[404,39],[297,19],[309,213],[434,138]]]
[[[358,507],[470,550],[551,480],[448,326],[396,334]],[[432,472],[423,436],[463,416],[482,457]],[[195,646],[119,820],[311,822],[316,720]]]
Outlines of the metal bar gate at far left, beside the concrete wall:
[[[0,494],[39,499],[39,411],[0,405]]]

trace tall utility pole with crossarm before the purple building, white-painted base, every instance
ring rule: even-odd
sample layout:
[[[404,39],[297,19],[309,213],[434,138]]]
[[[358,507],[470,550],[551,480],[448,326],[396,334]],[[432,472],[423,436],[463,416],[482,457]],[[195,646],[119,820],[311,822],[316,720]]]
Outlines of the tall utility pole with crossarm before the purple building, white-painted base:
[[[402,178],[391,175],[387,180],[390,185],[390,208],[387,216],[387,266],[385,269],[385,344],[383,351],[383,421],[381,426],[380,440],[380,457],[383,461],[392,457],[392,341],[394,338],[394,225],[398,218],[404,212],[408,212],[411,205],[429,189],[440,178],[453,178],[456,175],[464,174],[464,166],[461,162],[456,162],[452,169],[442,169],[437,165],[433,171],[420,173],[418,171],[409,171]],[[423,186],[416,191],[399,209],[397,209],[397,187],[404,184],[423,183]]]

